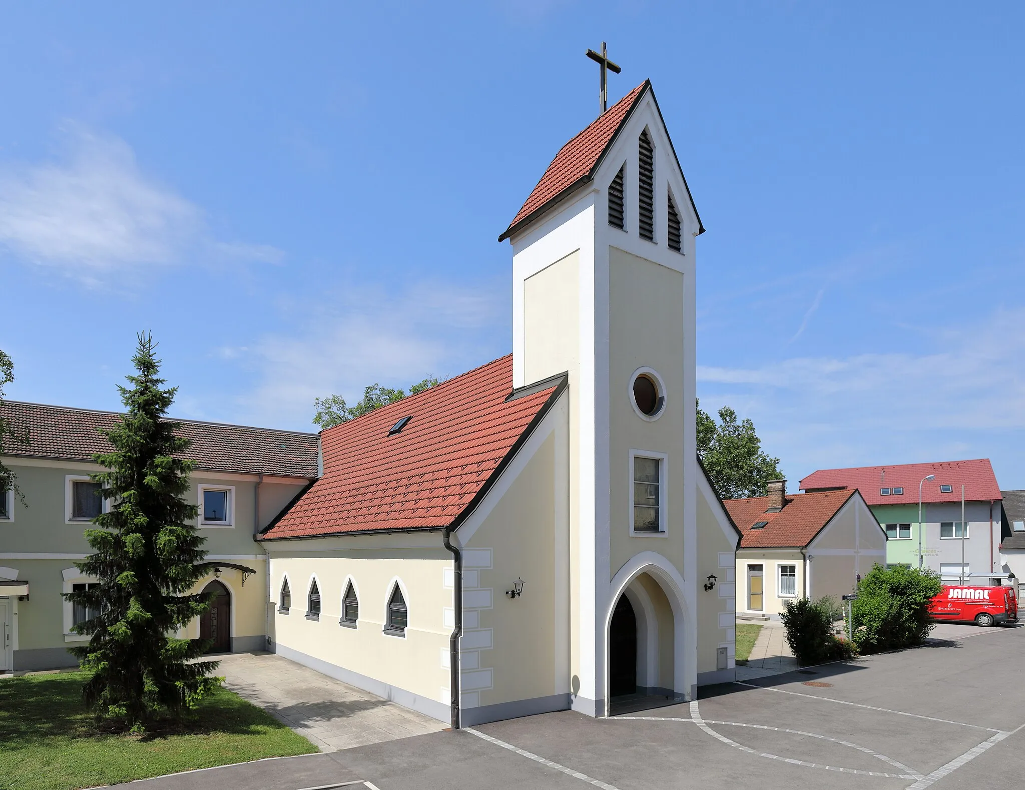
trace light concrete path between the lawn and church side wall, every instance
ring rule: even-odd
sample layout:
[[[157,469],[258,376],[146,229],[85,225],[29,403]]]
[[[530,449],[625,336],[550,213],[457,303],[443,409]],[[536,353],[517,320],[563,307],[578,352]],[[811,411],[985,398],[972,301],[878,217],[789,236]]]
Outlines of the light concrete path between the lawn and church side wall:
[[[218,656],[224,685],[322,752],[444,730],[446,724],[272,653]]]

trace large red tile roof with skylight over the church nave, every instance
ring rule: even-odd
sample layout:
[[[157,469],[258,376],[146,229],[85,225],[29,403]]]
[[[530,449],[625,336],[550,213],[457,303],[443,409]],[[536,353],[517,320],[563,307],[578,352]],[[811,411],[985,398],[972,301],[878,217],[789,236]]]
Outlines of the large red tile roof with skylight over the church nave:
[[[565,379],[512,391],[512,357],[321,434],[324,475],[261,535],[310,538],[451,526],[497,476]],[[395,435],[388,429],[412,416]]]

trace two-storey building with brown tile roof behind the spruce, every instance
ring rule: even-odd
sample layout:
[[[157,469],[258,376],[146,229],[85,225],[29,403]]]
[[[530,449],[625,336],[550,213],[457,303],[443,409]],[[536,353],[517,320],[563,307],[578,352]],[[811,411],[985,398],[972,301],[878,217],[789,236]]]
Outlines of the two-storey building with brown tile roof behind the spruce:
[[[96,496],[92,456],[111,451],[99,432],[114,412],[6,401],[4,417],[28,430],[27,447],[8,448],[23,502],[0,494],[0,671],[75,666],[67,651],[87,637],[72,632],[90,617],[64,599],[93,583],[75,568],[91,549],[84,532],[108,504]],[[196,462],[189,501],[209,552],[194,592],[215,591],[212,613],[182,634],[212,638],[211,650],[263,650],[268,632],[265,552],[253,536],[317,477],[318,436],[269,428],[182,420]]]

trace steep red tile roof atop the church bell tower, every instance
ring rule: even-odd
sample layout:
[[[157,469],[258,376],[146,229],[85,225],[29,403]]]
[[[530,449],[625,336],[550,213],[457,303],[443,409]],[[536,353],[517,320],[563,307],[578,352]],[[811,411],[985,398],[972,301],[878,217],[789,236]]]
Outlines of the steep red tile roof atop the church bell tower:
[[[520,207],[517,215],[509,222],[498,241],[508,239],[512,234],[532,222],[557,203],[565,200],[580,186],[594,179],[598,168],[605,160],[605,155],[612,148],[619,132],[626,126],[633,111],[641,103],[646,92],[651,92],[652,101],[658,111],[659,120],[662,119],[662,111],[658,107],[658,99],[655,98],[655,91],[652,90],[651,80],[645,80],[633,90],[623,96],[619,101],[602,113],[586,129],[574,136],[569,142],[560,149],[551,164],[544,171],[541,180],[534,186],[527,202]],[[665,122],[662,122],[663,128]],[[666,139],[669,138],[668,129],[665,131]],[[669,139],[669,149],[672,157],[680,168],[680,159],[676,151]],[[680,168],[683,177],[683,168]],[[691,189],[684,178],[684,186],[687,190],[687,199],[691,202],[694,215],[698,217],[700,233],[704,233],[704,225],[701,224],[701,217],[698,215],[697,206],[694,205],[694,198],[691,197]]]

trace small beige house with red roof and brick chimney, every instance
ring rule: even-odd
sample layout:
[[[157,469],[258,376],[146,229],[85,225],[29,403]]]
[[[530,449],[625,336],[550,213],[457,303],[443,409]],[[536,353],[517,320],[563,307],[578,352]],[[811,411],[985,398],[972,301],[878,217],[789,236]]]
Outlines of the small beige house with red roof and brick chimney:
[[[859,576],[887,560],[887,534],[857,489],[730,499],[742,533],[737,549],[737,616],[776,620],[787,600],[854,591]]]

